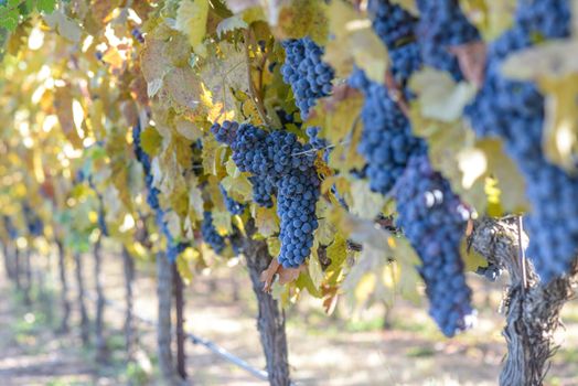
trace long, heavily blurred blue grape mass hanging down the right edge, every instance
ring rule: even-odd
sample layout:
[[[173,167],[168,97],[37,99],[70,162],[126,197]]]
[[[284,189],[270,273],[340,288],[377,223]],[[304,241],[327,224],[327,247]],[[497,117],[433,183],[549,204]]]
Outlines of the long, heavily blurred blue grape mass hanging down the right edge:
[[[518,1],[513,26],[488,49],[485,81],[467,107],[477,135],[504,140],[526,180],[533,212],[525,218],[527,254],[544,282],[568,270],[578,251],[578,179],[552,164],[542,149],[544,97],[535,84],[502,76],[510,54],[570,33],[567,1]]]

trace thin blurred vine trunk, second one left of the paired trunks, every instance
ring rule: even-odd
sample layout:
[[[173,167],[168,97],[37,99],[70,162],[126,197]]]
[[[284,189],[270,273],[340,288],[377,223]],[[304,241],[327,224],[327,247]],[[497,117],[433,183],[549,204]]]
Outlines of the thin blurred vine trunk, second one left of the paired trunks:
[[[95,346],[96,354],[95,358],[97,363],[105,363],[107,360],[108,350],[106,346],[106,337],[104,332],[104,320],[105,320],[105,291],[103,289],[103,237],[99,236],[96,240],[93,249],[93,256],[95,259],[94,276],[95,276],[95,289],[96,289],[96,317],[95,317]]]

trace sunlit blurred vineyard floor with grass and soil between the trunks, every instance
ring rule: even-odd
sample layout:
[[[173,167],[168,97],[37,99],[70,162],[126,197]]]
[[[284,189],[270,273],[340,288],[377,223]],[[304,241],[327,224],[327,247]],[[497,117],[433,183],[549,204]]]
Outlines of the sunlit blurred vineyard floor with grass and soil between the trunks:
[[[54,260],[54,259],[53,259]],[[106,294],[122,305],[121,259],[109,250],[106,269]],[[92,289],[92,257],[85,256],[85,278]],[[71,283],[74,289],[72,262]],[[154,265],[138,264],[136,280],[136,312],[154,319]],[[81,349],[75,333],[58,335],[57,282],[55,267],[36,271],[44,275],[44,288],[52,292],[33,293],[41,297],[32,308],[23,305],[20,294],[11,290],[6,276],[0,277],[0,385],[156,385],[158,374],[150,372],[140,378],[127,371],[122,360],[122,313],[106,310],[110,364],[96,367],[90,349]],[[253,366],[263,368],[255,323],[256,303],[248,275],[231,277],[220,269],[211,277],[199,275],[186,288],[186,330],[214,341]],[[306,299],[289,308],[288,336],[290,364],[295,379],[304,386],[353,385],[495,385],[504,355],[500,334],[501,317],[496,313],[501,288],[486,287],[472,277],[478,288],[475,305],[480,310],[478,328],[454,340],[445,340],[420,308],[404,301],[396,303],[383,330],[384,308],[376,305],[358,315],[351,315],[345,304],[339,315],[325,317],[315,300]],[[73,292],[73,291],[71,291]],[[74,299],[74,293],[69,293]],[[94,299],[87,299],[94,315]],[[345,301],[343,301],[345,303]],[[74,300],[73,300],[74,304]],[[73,308],[72,323],[77,323]],[[307,310],[307,312],[306,312]],[[308,317],[304,317],[308,315]],[[547,378],[548,385],[578,384],[578,303],[567,304],[564,319],[566,331],[560,332],[560,349]],[[307,319],[306,319],[307,318]],[[152,328],[139,324],[142,349],[140,363],[147,373],[148,360],[156,361]],[[266,385],[250,374],[229,364],[200,345],[188,344],[188,369],[195,385]],[[149,380],[144,380],[144,379]],[[140,379],[140,380],[136,380]]]

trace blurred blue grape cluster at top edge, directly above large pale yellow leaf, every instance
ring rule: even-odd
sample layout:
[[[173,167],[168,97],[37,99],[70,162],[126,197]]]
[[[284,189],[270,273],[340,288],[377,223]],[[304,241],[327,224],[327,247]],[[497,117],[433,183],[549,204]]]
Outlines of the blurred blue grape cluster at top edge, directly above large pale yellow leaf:
[[[475,42],[480,33],[465,18],[458,0],[418,0],[417,35],[424,63],[449,72],[456,79],[462,74],[452,46]]]

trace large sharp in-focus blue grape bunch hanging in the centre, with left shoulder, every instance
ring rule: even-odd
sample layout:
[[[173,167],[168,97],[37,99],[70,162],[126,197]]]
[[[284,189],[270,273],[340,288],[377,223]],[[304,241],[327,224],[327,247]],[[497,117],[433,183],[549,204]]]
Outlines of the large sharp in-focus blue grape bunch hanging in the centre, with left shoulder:
[[[271,206],[271,195],[277,192],[281,228],[278,260],[283,267],[298,267],[309,256],[318,227],[320,181],[313,147],[300,143],[291,132],[266,132],[246,124],[215,124],[211,131],[231,147],[237,168],[254,174],[250,182],[260,205]]]

